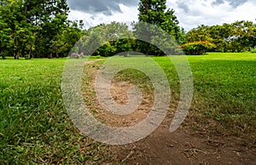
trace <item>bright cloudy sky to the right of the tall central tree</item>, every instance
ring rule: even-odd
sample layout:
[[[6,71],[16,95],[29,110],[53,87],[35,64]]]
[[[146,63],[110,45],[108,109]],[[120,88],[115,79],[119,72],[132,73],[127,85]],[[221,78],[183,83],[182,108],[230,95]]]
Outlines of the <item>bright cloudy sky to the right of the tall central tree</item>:
[[[228,2],[212,5],[214,0],[183,0],[189,6],[187,13],[178,8],[178,2],[180,3],[181,0],[167,0],[168,7],[175,10],[180,25],[187,31],[202,24],[213,26],[232,23],[236,20],[254,21],[256,16],[256,4],[253,1],[247,1],[234,8]]]

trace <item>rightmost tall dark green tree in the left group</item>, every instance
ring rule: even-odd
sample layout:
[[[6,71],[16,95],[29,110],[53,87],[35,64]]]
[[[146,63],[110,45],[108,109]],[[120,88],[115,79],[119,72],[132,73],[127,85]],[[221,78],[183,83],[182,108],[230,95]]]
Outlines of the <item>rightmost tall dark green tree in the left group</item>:
[[[36,57],[52,58],[54,54],[54,44],[56,35],[62,31],[67,24],[67,14],[69,12],[66,0],[25,0],[27,20],[38,26],[37,37],[40,42],[35,44]]]

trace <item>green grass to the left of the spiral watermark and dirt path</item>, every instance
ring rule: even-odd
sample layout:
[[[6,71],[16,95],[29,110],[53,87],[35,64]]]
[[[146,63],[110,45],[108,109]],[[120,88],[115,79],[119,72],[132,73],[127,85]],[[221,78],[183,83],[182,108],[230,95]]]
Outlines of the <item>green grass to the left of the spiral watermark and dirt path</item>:
[[[0,164],[100,163],[105,146],[73,127],[61,98],[65,60],[0,60]]]

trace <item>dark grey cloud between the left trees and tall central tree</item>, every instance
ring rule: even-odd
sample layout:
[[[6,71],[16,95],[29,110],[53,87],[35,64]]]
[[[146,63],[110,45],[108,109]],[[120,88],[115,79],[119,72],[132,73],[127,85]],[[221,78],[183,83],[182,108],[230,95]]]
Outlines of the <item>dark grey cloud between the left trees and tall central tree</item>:
[[[121,12],[119,8],[121,3],[126,6],[137,6],[138,0],[67,0],[70,9],[90,14],[102,13],[107,15]]]

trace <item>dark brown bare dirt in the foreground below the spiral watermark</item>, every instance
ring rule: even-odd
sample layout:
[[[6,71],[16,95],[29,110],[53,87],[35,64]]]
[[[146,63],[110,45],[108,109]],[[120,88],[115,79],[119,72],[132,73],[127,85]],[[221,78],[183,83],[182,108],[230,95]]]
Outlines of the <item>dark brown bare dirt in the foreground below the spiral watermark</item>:
[[[166,120],[168,121],[168,119]],[[255,150],[233,139],[202,138],[185,128],[170,133],[162,124],[135,144],[117,147],[117,162],[125,164],[256,164]]]

